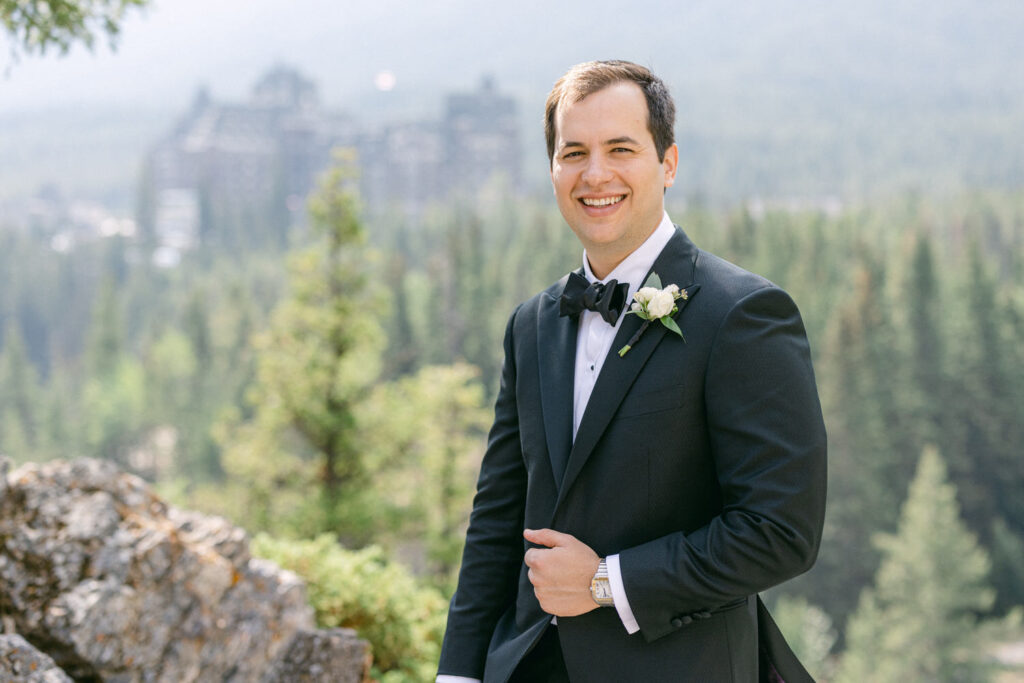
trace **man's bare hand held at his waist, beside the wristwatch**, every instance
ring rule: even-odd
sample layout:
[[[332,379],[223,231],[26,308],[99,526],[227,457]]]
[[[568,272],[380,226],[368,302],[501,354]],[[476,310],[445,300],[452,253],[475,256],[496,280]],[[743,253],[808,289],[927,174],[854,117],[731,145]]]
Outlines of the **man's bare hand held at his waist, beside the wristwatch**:
[[[575,537],[550,528],[522,532],[524,539],[546,548],[530,548],[523,558],[529,583],[541,608],[555,616],[577,616],[597,607],[590,596],[590,580],[601,558]]]

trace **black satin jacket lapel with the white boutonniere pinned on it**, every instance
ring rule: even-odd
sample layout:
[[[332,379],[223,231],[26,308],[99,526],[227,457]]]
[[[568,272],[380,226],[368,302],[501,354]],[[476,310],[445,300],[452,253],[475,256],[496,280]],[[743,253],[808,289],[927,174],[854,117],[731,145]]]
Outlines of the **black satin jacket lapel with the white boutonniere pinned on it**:
[[[683,311],[700,288],[693,282],[696,254],[696,247],[677,226],[676,234],[662,250],[651,267],[651,271],[658,274],[663,285],[666,287],[670,284],[679,285],[690,295],[688,299],[676,301],[679,311],[675,315],[675,321],[682,328],[684,336],[686,335],[686,318]],[[650,272],[644,275],[644,281],[649,274]],[[614,416],[618,404],[626,396],[626,392],[668,333],[666,327],[660,323],[651,323],[640,340],[633,345],[633,348],[626,355],[620,356],[618,349],[626,345],[626,342],[640,329],[642,324],[643,321],[636,315],[627,315],[615,334],[615,340],[612,342],[608,356],[601,368],[601,374],[594,385],[594,392],[587,403],[587,410],[584,411],[580,430],[577,432],[575,441],[569,452],[565,475],[562,477],[558,490],[558,502],[555,504],[556,510],[565,498],[565,493],[580,474],[587,459],[590,458],[590,454],[604,433],[608,422]]]

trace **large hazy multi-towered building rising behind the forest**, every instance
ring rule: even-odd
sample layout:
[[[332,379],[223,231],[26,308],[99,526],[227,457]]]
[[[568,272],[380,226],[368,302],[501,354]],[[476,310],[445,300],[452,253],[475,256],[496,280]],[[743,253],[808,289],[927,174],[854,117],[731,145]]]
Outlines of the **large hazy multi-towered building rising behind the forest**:
[[[518,188],[516,112],[489,78],[475,92],[447,95],[439,121],[376,129],[324,110],[312,82],[285,67],[267,72],[244,103],[215,103],[200,90],[150,158],[154,237],[188,249],[231,222],[284,234],[302,219],[304,200],[338,146],[356,150],[371,212],[419,215],[454,194],[472,196],[496,173]]]

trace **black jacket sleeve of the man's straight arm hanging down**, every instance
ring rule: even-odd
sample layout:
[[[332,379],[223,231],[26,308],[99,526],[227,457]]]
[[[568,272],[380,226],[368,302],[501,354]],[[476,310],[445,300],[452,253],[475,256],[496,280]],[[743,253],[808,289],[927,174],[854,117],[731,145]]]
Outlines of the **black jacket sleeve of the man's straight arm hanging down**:
[[[482,678],[487,646],[514,603],[523,557],[526,469],[519,441],[513,327],[505,331],[505,361],[495,422],[480,465],[466,531],[459,587],[452,598],[439,674]]]

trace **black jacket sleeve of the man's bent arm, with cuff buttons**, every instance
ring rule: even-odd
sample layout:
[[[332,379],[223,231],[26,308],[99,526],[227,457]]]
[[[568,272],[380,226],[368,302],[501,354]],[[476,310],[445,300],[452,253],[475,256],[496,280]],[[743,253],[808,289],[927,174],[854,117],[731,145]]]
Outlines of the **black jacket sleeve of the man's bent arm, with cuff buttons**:
[[[825,431],[796,304],[764,287],[724,315],[705,378],[722,508],[708,524],[620,553],[647,641],[807,570],[824,518]]]

